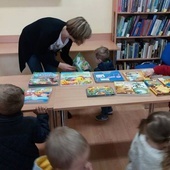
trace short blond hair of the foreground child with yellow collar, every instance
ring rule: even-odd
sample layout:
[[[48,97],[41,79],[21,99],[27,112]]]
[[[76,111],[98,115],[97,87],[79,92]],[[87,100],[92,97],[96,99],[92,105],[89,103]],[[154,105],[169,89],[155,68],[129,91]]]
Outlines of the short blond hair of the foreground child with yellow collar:
[[[46,154],[53,168],[69,169],[87,149],[89,144],[86,139],[68,127],[57,127],[46,141]]]

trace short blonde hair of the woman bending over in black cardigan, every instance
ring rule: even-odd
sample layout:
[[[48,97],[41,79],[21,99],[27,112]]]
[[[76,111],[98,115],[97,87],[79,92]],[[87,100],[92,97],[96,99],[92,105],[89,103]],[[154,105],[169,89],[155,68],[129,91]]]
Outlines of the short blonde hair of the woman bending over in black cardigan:
[[[83,17],[76,17],[68,20],[66,23],[66,29],[75,39],[75,42],[80,42],[81,44],[84,40],[90,38],[92,34],[90,25]]]

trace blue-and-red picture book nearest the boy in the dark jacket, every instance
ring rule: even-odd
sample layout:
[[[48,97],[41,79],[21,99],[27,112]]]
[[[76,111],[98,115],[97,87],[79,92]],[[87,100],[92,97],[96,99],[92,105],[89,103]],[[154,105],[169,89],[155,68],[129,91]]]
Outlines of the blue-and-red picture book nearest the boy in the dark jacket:
[[[25,91],[24,103],[47,103],[51,92],[51,87],[29,88]]]

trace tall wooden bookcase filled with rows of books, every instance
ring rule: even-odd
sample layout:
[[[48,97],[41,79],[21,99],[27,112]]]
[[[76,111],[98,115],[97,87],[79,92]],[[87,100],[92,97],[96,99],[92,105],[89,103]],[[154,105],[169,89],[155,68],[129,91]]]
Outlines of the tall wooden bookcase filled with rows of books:
[[[113,0],[112,39],[117,69],[160,62],[170,39],[170,0]]]

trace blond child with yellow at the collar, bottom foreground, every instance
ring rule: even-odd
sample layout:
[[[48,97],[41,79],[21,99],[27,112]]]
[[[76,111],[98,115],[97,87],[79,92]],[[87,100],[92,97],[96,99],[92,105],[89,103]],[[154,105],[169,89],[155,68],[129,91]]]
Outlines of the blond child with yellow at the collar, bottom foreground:
[[[46,154],[35,160],[33,170],[93,170],[88,162],[89,144],[74,129],[54,129],[46,142]]]

